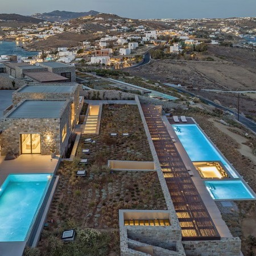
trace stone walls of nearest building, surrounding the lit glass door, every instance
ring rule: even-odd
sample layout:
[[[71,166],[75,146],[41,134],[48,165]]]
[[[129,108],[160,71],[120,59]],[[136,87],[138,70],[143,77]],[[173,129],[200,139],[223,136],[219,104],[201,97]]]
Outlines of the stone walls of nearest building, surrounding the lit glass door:
[[[0,121],[1,154],[6,155],[12,151],[20,154],[20,134],[21,133],[39,133],[41,135],[41,154],[50,155],[50,148],[55,144],[56,154],[61,155],[67,146],[70,130],[70,105],[63,110],[61,118],[8,118],[7,116],[15,109],[5,115]],[[67,123],[67,135],[62,142],[61,131]]]

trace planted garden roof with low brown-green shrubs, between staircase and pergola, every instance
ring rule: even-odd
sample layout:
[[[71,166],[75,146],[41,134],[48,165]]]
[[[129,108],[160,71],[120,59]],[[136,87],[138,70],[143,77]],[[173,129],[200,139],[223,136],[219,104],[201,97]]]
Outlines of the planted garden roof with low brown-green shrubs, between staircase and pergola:
[[[110,138],[109,133],[118,133]],[[131,136],[122,138],[121,133]],[[92,138],[94,144],[84,144]],[[90,155],[82,155],[89,148]],[[88,166],[79,164],[88,158]],[[119,209],[167,209],[156,172],[110,172],[107,160],[152,161],[137,105],[104,105],[100,135],[82,135],[73,162],[62,162],[59,184],[34,254],[119,255]],[[77,177],[77,170],[86,177]],[[61,241],[63,230],[75,229],[75,242]],[[33,250],[33,249],[32,249]]]

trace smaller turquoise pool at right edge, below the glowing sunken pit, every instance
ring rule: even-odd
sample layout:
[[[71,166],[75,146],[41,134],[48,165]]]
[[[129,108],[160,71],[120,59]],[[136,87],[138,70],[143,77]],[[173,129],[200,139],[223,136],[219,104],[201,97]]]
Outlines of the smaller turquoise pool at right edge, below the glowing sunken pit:
[[[241,180],[204,182],[213,199],[241,200],[255,198]]]

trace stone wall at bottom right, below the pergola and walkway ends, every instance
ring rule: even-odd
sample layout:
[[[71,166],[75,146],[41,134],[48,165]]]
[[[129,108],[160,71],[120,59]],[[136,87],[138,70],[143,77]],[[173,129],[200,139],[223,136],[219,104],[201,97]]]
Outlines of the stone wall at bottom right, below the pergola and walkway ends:
[[[221,238],[217,241],[182,241],[187,256],[240,256],[239,237]]]

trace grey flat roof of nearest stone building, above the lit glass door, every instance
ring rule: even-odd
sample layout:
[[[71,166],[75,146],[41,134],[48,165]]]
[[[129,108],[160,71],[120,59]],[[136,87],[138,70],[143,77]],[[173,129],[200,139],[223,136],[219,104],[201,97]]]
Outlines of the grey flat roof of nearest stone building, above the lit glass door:
[[[7,118],[60,118],[66,101],[23,101]]]

